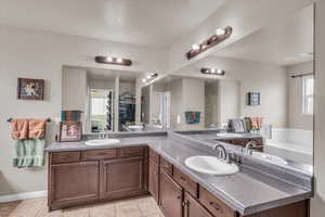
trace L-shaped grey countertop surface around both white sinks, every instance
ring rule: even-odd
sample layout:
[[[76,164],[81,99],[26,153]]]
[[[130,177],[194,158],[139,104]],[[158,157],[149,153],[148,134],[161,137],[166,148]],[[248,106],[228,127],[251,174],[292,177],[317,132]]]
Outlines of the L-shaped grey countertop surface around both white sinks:
[[[239,165],[240,170],[230,176],[211,176],[196,173],[185,166],[184,159],[195,155],[211,155],[200,145],[188,145],[188,141],[173,135],[159,137],[119,138],[120,143],[108,146],[88,146],[83,142],[53,143],[47,152],[93,150],[148,145],[193,180],[221,199],[242,215],[250,215],[269,208],[310,199],[312,190],[266,176]]]

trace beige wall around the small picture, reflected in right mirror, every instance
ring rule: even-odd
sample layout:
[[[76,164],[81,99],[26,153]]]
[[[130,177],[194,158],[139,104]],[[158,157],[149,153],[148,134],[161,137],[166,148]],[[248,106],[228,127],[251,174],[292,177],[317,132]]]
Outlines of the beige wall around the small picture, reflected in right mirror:
[[[276,65],[248,63],[240,82],[243,117],[263,117],[264,124],[287,127],[287,88],[285,68]],[[247,105],[247,93],[260,92],[261,104]]]

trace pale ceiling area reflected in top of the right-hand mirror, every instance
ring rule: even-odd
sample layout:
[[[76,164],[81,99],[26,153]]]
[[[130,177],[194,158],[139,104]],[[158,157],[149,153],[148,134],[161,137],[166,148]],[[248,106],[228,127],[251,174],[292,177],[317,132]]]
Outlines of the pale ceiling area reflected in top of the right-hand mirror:
[[[313,5],[262,28],[213,55],[291,65],[313,60]]]

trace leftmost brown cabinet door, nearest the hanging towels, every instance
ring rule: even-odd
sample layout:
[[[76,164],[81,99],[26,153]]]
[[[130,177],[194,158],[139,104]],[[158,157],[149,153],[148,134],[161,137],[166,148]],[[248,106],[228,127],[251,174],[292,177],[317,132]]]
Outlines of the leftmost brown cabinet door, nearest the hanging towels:
[[[99,196],[99,163],[82,162],[50,166],[50,208],[95,201]]]

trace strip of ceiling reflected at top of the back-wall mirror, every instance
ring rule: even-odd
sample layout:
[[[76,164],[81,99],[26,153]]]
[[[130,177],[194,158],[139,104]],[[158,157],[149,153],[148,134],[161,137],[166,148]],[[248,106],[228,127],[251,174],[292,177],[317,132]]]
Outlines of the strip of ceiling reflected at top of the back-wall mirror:
[[[135,81],[141,73],[128,71],[112,71],[107,68],[87,67],[88,77],[93,80],[114,80],[115,76],[119,76],[120,81]]]

